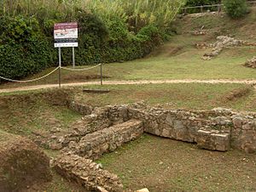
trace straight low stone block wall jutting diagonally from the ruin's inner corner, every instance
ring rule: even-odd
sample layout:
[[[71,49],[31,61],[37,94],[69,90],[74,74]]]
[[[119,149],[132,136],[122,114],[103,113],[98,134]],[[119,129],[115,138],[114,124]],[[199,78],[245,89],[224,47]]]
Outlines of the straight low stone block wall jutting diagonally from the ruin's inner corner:
[[[116,150],[122,144],[140,137],[143,131],[143,121],[125,121],[113,127],[87,134],[80,139],[78,144],[71,142],[66,151],[96,160],[102,154]]]

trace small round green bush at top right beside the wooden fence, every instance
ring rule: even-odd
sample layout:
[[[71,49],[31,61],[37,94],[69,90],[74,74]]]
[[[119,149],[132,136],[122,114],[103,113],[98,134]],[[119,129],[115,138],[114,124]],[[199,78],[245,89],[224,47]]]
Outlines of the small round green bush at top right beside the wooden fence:
[[[224,0],[224,10],[233,19],[243,17],[248,12],[246,0]]]

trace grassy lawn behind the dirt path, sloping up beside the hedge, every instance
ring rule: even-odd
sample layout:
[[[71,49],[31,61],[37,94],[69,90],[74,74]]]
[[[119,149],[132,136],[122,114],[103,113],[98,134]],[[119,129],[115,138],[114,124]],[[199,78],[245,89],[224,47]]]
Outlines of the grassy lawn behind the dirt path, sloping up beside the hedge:
[[[207,37],[175,36],[172,37],[171,42],[167,42],[156,53],[145,59],[103,65],[104,80],[256,79],[255,69],[243,66],[247,59],[253,58],[256,47],[226,48],[218,57],[202,60],[202,55],[210,49],[197,49],[194,44],[204,41],[205,38]],[[28,79],[44,76],[53,69],[49,68]],[[99,80],[100,68],[90,71],[62,70],[61,72],[62,83]],[[39,82],[7,83],[0,88],[55,83],[58,83],[58,71]]]

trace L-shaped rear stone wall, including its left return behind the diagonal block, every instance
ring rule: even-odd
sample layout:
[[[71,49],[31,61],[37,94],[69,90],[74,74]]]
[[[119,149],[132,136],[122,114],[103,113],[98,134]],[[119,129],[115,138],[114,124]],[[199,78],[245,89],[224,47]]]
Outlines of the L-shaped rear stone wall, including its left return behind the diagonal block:
[[[196,143],[202,149],[226,151],[233,147],[250,153],[256,151],[256,118],[252,113],[240,114],[224,109],[165,110],[143,104],[106,106],[96,108],[92,113],[74,125],[77,135],[84,136],[137,119],[143,121],[146,133]],[[237,118],[242,119],[240,127],[235,123]]]

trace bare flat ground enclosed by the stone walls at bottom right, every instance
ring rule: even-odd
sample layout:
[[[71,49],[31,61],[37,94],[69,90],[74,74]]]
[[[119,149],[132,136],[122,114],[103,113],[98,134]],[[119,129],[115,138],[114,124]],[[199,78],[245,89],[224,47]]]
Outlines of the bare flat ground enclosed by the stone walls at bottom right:
[[[256,191],[256,155],[236,150],[199,150],[193,144],[144,135],[100,161],[132,190]]]

